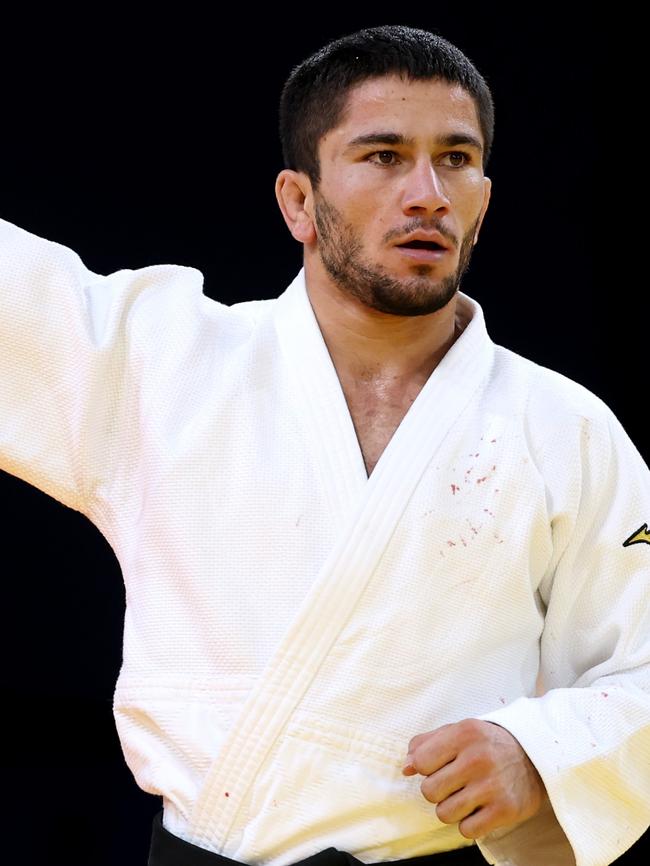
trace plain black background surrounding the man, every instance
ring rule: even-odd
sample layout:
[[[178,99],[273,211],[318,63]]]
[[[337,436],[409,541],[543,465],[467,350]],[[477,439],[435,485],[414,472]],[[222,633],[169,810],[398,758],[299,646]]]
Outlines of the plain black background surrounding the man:
[[[463,290],[496,343],[600,396],[650,461],[632,26],[620,35],[587,4],[216,21],[175,8],[137,24],[93,8],[28,10],[7,26],[0,216],[99,273],[171,262],[203,271],[220,301],[276,297],[302,257],[273,192],[292,66],[361,27],[433,30],[496,103],[492,200]],[[0,496],[5,838],[24,863],[144,866],[161,803],[135,785],[112,718],[119,565],[77,512],[6,474]],[[617,862],[647,849],[644,837]]]

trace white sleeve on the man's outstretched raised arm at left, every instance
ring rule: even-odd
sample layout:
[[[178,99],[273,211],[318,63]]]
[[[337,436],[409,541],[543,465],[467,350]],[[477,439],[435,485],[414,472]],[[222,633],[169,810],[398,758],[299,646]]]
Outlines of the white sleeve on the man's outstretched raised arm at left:
[[[115,461],[137,447],[138,355],[158,348],[155,330],[134,324],[138,310],[164,307],[188,282],[201,294],[194,268],[101,276],[0,220],[0,469],[88,514]]]

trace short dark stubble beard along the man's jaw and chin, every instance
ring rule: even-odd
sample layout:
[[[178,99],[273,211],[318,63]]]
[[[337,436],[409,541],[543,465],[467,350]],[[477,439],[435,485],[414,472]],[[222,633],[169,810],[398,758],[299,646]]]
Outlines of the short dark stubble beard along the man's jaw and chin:
[[[394,316],[426,316],[445,307],[460,287],[474,249],[478,220],[460,245],[458,267],[436,280],[436,265],[414,265],[415,276],[395,279],[382,265],[364,260],[361,241],[341,213],[320,193],[314,197],[318,252],[336,286],[362,304]]]

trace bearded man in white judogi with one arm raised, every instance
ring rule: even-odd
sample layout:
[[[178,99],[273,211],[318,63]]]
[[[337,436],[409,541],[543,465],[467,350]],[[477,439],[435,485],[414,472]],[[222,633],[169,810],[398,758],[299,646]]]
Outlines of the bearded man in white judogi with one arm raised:
[[[603,866],[648,826],[650,472],[459,290],[492,135],[455,46],[371,28],[285,85],[280,298],[2,224],[1,466],[120,561],[151,866]]]

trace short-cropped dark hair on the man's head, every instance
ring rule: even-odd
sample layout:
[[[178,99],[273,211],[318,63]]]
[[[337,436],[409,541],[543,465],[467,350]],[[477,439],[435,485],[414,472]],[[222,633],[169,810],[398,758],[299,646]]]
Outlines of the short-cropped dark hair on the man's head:
[[[305,172],[316,189],[319,142],[341,122],[350,89],[366,79],[392,74],[457,83],[473,97],[483,133],[485,171],[494,138],[494,102],[485,79],[442,36],[398,24],[342,36],[292,69],[280,97],[285,168]]]

